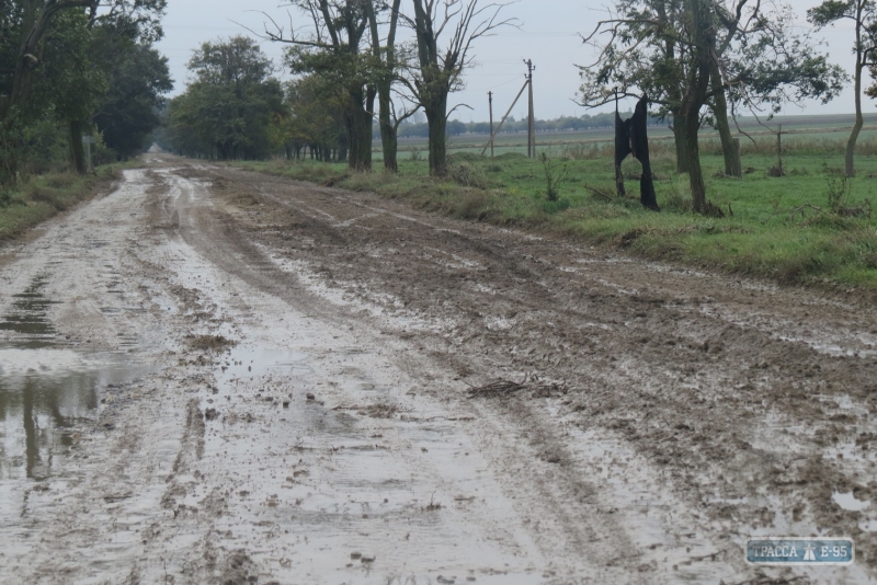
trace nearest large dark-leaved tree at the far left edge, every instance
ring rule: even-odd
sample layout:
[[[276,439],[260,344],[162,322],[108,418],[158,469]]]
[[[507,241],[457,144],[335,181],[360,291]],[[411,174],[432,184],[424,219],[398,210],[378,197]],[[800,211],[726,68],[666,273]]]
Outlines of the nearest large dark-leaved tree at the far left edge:
[[[119,56],[95,58],[94,38],[113,28],[151,43],[166,0],[0,0],[0,182],[14,181],[30,153],[31,126],[65,124],[72,161],[84,171],[81,134]]]

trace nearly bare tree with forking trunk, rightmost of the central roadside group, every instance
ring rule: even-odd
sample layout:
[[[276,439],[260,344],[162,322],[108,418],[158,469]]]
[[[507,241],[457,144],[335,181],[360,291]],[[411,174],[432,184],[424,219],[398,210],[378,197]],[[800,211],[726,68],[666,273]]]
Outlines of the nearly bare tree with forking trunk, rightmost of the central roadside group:
[[[430,174],[444,175],[451,114],[448,94],[463,87],[463,71],[472,65],[472,43],[514,20],[500,20],[500,11],[505,7],[502,3],[481,7],[478,0],[413,0],[413,3],[414,18],[406,20],[417,36],[417,61],[405,82],[426,115]],[[441,37],[446,31],[449,36],[441,48]]]

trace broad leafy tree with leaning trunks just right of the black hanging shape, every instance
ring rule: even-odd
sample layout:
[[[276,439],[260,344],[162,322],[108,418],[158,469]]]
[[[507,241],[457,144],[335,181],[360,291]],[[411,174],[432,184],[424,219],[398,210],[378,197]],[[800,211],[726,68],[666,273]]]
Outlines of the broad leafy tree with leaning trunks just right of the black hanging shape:
[[[840,69],[788,34],[783,25],[787,13],[767,13],[758,0],[618,0],[616,11],[584,37],[597,47],[599,57],[593,66],[580,67],[579,101],[593,107],[611,101],[616,91],[624,96],[647,93],[659,115],[672,118],[677,169],[690,174],[694,208],[706,213],[713,207],[706,200],[697,144],[705,106],[719,129],[726,171],[739,176],[728,100],[733,111],[741,102],[758,108],[790,95],[813,96],[816,89],[823,96],[840,91]],[[600,43],[602,35],[608,41]],[[784,57],[778,62],[777,55]],[[820,76],[827,79],[818,81]]]

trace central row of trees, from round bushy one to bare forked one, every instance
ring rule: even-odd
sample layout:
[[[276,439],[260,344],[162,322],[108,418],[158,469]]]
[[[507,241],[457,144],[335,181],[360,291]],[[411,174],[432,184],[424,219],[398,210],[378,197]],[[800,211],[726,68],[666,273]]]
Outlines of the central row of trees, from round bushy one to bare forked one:
[[[346,160],[351,169],[369,171],[377,117],[384,167],[396,172],[399,126],[422,111],[430,172],[443,174],[448,94],[462,87],[472,43],[510,22],[499,18],[503,4],[478,0],[410,0],[407,7],[401,0],[293,0],[291,4],[310,24],[286,31],[270,21],[261,36],[289,45],[284,66],[298,79],[282,87],[270,74],[258,45],[244,37],[204,44],[189,65],[195,82],[169,107],[173,145],[219,157],[258,156],[257,146],[283,146],[292,154],[307,145],[321,156],[331,152],[334,159]],[[400,26],[412,31],[411,43],[397,43]],[[226,53],[240,59],[223,60]],[[214,74],[205,62],[224,73]],[[254,74],[237,79],[238,66]],[[397,112],[397,103],[409,107]],[[263,124],[272,116],[273,125]]]

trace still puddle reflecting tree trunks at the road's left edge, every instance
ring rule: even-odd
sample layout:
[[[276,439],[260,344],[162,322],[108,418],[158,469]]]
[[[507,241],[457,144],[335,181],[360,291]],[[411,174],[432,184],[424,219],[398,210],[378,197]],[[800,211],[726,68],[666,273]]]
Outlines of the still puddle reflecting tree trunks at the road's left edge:
[[[96,417],[100,389],[146,371],[113,355],[0,347],[0,483],[50,477],[82,423]]]

